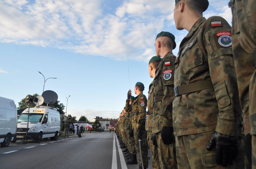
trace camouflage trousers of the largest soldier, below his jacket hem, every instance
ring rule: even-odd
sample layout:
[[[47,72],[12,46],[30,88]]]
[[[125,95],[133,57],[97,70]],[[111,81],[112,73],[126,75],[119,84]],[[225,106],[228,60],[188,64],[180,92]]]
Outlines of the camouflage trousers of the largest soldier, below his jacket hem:
[[[242,169],[244,168],[244,147],[238,147],[238,156],[232,165],[223,167],[215,162],[215,148],[206,150],[212,133],[204,132],[175,137],[179,169]]]

